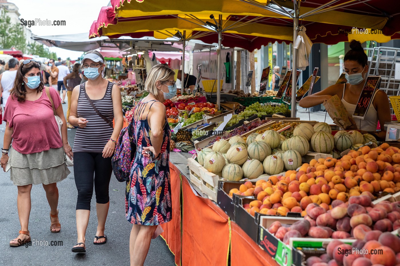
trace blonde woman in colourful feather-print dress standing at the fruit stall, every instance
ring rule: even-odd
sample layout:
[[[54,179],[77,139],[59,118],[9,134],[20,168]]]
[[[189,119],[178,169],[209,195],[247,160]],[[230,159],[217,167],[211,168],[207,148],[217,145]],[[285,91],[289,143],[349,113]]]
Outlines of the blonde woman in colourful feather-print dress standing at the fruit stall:
[[[162,102],[176,94],[174,75],[165,64],[152,67],[145,83],[149,95],[134,111],[132,123],[137,150],[126,183],[126,219],[133,224],[130,265],[144,264],[157,226],[172,219],[170,127]]]

